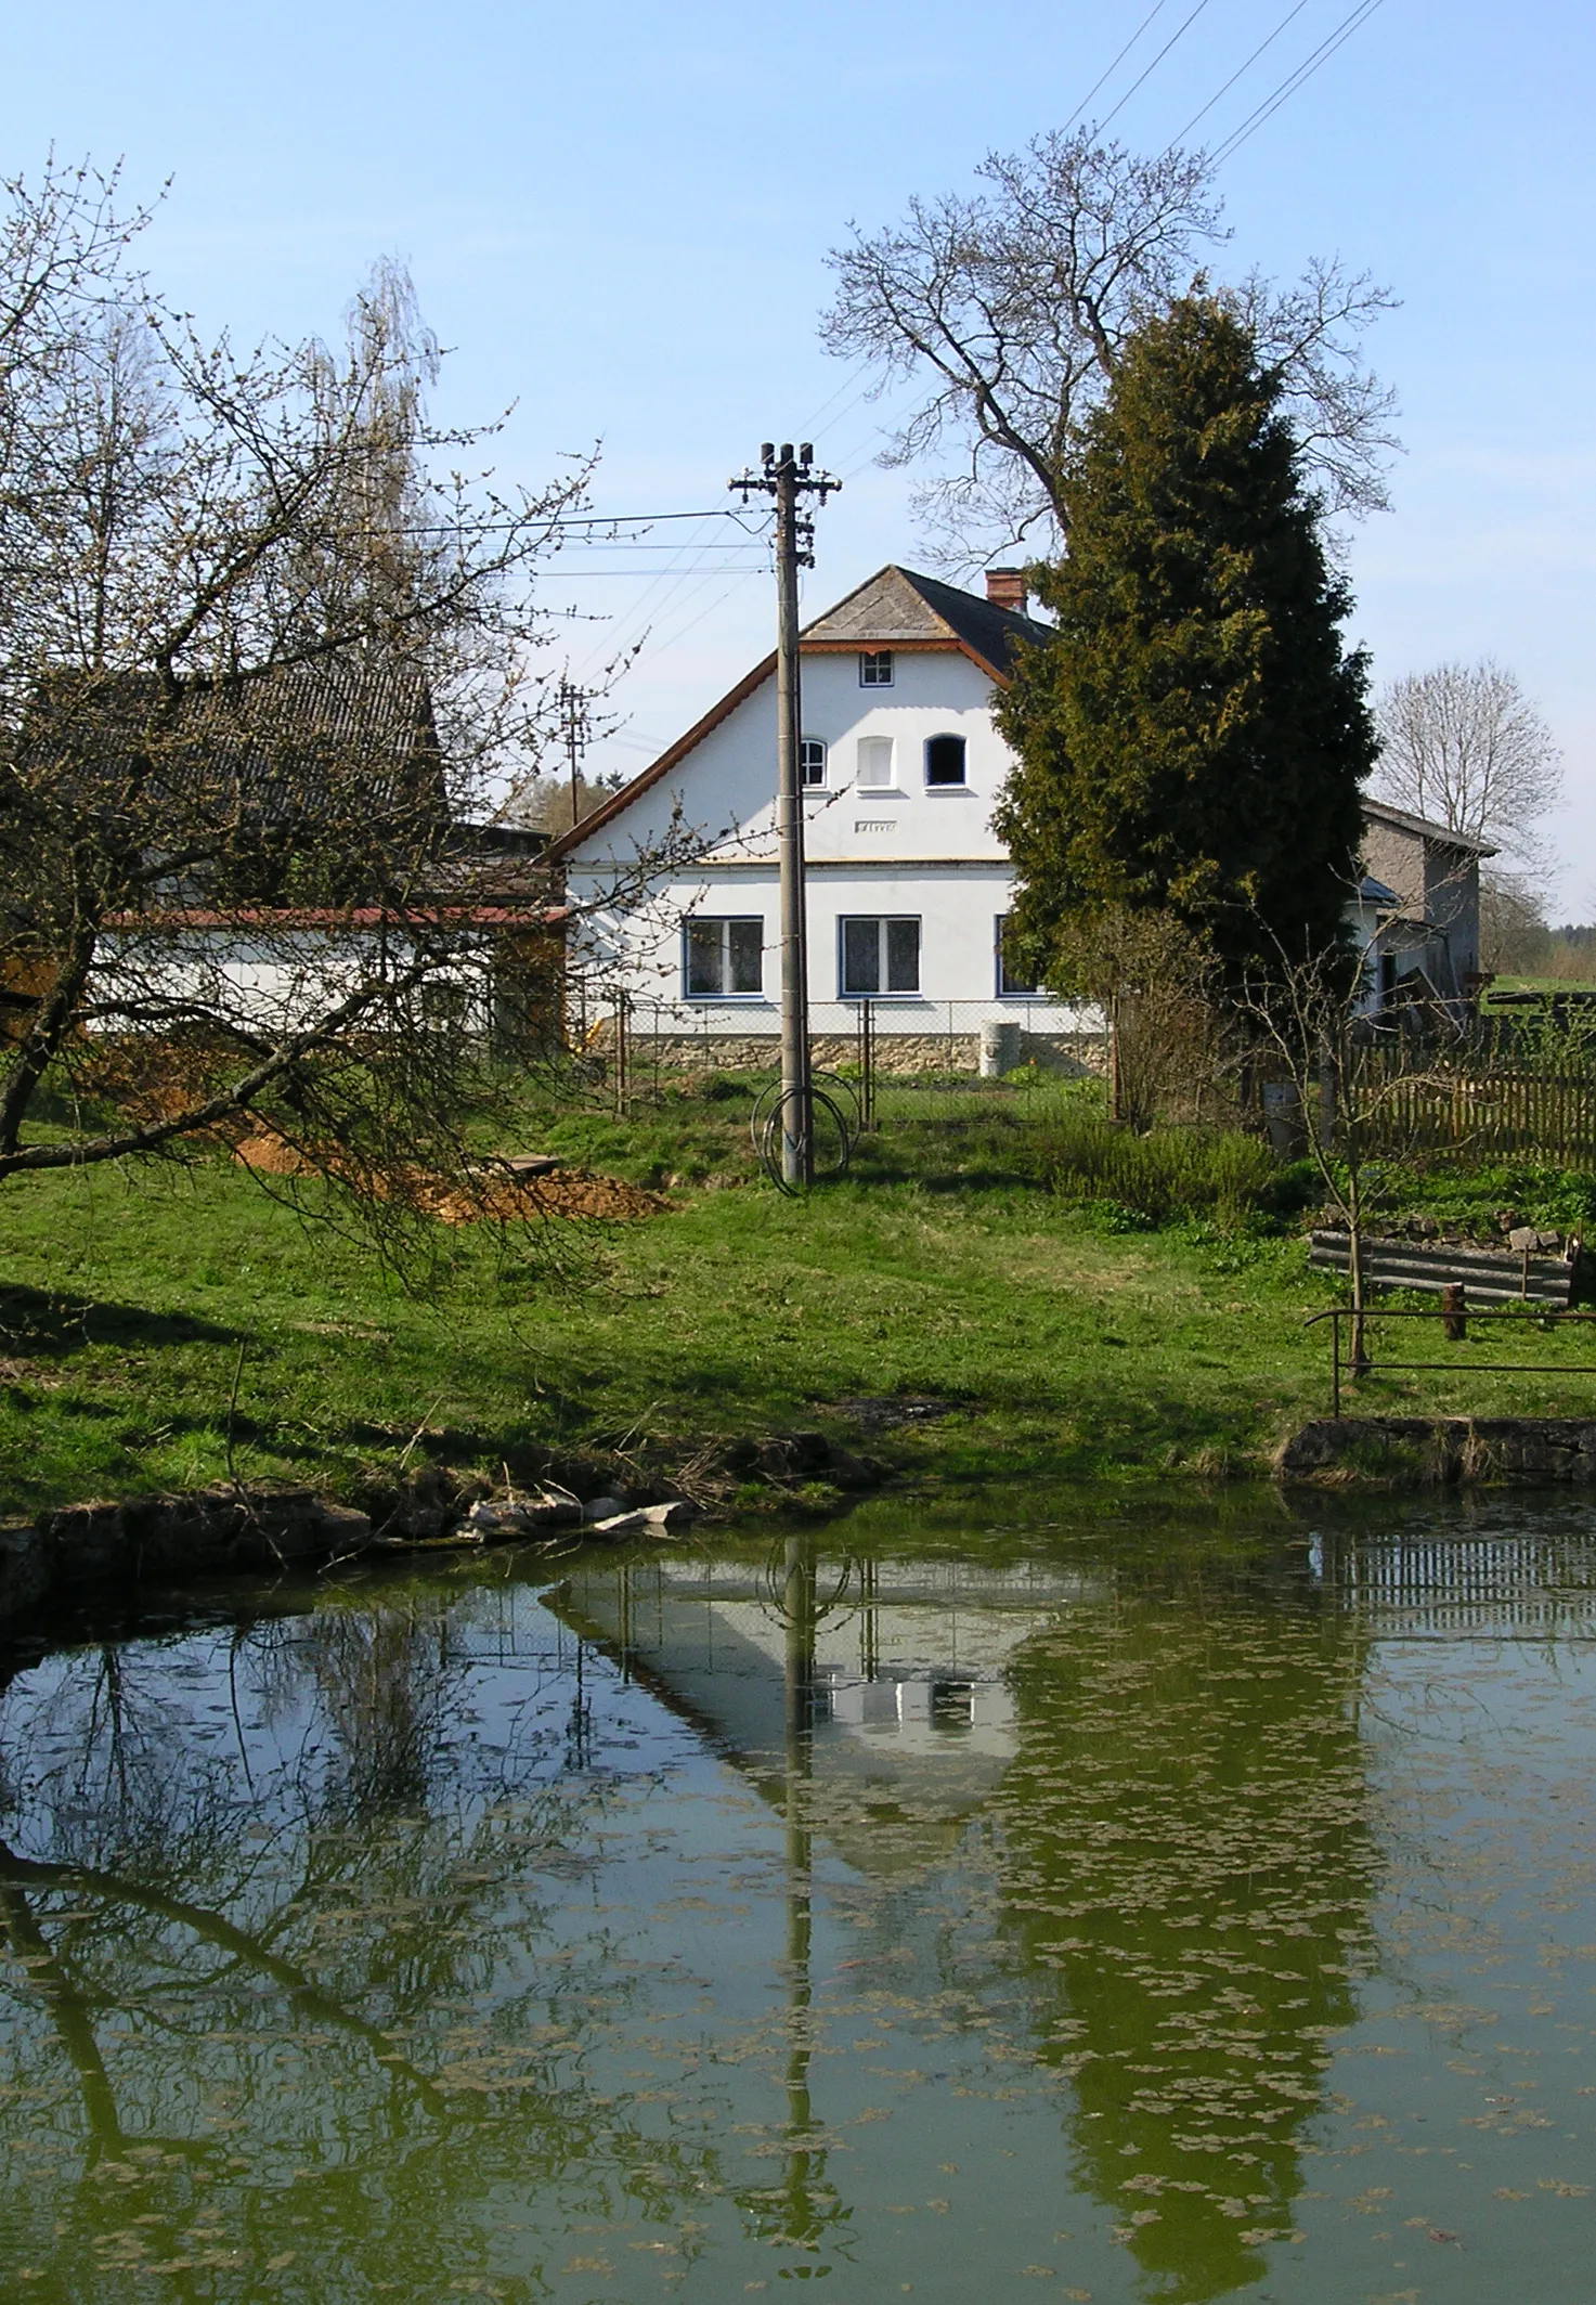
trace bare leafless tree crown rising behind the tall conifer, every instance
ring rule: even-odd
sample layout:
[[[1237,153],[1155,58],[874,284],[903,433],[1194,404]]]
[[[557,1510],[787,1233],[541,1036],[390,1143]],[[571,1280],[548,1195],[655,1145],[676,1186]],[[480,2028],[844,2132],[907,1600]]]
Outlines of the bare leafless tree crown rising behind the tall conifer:
[[[1225,244],[1216,168],[1202,152],[1140,159],[1092,127],[988,154],[983,189],[912,201],[900,224],[831,254],[829,350],[866,362],[875,390],[926,385],[887,463],[956,449],[919,491],[949,562],[1055,544],[1069,528],[1062,477],[1126,334],[1195,286],[1246,320],[1285,387],[1285,413],[1331,512],[1384,502],[1391,394],[1359,337],[1391,297],[1338,263],[1274,290],[1257,274],[1216,290]]]

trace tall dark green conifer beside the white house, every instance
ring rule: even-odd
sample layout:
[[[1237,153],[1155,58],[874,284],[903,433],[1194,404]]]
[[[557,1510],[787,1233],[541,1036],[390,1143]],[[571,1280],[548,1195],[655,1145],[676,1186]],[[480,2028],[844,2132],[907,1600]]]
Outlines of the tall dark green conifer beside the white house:
[[[1244,323],[1184,297],[1128,346],[1069,473],[1057,638],[1000,705],[1016,938],[1050,982],[1094,913],[1165,910],[1221,966],[1343,938],[1375,758],[1320,505]]]

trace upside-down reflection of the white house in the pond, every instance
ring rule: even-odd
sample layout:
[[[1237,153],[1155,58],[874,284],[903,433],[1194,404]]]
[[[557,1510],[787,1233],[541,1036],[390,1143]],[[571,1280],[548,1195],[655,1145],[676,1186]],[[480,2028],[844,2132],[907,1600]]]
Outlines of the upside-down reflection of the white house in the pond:
[[[774,1803],[788,1796],[797,1699],[813,1828],[871,1874],[924,1862],[1013,1756],[1009,1660],[1105,1586],[1039,1563],[818,1560],[804,1574],[813,1602],[797,1655],[781,1551],[762,1565],[594,1565],[546,1602]],[[914,1842],[887,1830],[894,1821],[912,1821]]]

